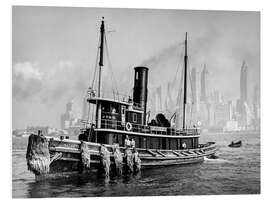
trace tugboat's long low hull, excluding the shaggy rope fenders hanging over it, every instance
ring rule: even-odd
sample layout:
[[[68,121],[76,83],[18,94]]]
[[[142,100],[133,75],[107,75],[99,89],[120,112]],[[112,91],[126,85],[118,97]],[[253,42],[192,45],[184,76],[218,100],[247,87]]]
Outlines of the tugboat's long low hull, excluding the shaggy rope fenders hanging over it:
[[[36,174],[37,179],[55,178],[70,174],[82,174],[99,172],[100,146],[98,143],[84,142],[90,151],[90,169],[82,170],[82,159],[80,146],[82,142],[77,140],[58,138],[46,138],[48,140],[48,150],[51,161],[49,171],[43,174]],[[115,171],[114,157],[112,155],[113,145],[105,146],[110,154],[110,171]],[[124,154],[124,147],[120,147],[121,153]],[[217,148],[214,143],[200,145],[197,149],[186,150],[162,150],[162,149],[136,149],[141,160],[141,169],[165,167],[173,165],[195,164],[204,161],[204,157],[215,154]],[[124,156],[124,155],[123,155]],[[56,158],[55,158],[56,157]],[[125,162],[123,162],[125,167]],[[125,173],[123,171],[123,173]],[[113,175],[110,172],[110,175]]]

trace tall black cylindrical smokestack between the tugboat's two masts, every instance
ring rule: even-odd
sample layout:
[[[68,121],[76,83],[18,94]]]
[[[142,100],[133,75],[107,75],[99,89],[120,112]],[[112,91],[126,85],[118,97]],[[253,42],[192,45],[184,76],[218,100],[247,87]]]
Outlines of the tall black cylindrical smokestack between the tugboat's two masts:
[[[135,105],[139,105],[143,109],[143,124],[146,124],[146,108],[147,108],[147,83],[148,68],[135,67],[133,101]]]

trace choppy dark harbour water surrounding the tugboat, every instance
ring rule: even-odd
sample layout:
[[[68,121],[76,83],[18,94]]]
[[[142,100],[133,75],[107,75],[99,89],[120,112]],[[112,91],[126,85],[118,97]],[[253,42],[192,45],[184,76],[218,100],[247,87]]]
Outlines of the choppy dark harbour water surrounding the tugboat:
[[[227,147],[232,140],[242,140],[243,146]],[[259,134],[202,135],[201,143],[206,141],[217,142],[219,159],[147,169],[109,181],[95,175],[35,181],[26,166],[27,138],[13,138],[12,194],[31,198],[260,193]]]

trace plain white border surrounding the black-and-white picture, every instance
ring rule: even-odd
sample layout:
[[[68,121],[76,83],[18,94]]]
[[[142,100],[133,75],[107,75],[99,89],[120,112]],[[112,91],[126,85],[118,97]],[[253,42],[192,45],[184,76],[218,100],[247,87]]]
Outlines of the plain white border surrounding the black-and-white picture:
[[[11,176],[11,6],[12,5],[33,5],[33,6],[72,6],[72,7],[118,7],[118,8],[159,8],[159,9],[191,9],[191,10],[246,10],[246,11],[261,11],[261,195],[218,195],[218,196],[170,196],[170,197],[125,197],[125,198],[110,198],[110,202],[119,201],[143,201],[143,202],[255,202],[264,201],[269,202],[269,130],[266,128],[268,123],[268,117],[270,116],[270,101],[269,101],[269,48],[270,45],[270,33],[269,33],[269,21],[270,9],[267,1],[254,1],[254,0],[167,0],[167,1],[155,1],[155,0],[9,0],[2,1],[0,6],[0,26],[1,26],[1,197],[2,199],[11,199],[12,197],[12,176]],[[268,61],[267,61],[268,60]],[[9,153],[8,153],[9,152]],[[8,167],[9,166],[9,167]],[[268,194],[267,194],[268,192]],[[65,201],[73,202],[77,199],[65,199]],[[89,202],[107,202],[107,198],[81,198],[79,201]],[[37,199],[25,199],[20,201],[37,201]],[[48,199],[38,199],[38,201],[48,201]],[[58,201],[58,199],[50,199],[50,201]]]

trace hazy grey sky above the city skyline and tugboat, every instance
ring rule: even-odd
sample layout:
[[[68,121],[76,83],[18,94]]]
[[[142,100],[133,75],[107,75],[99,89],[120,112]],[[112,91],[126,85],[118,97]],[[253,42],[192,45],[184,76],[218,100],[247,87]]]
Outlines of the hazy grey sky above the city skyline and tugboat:
[[[111,62],[103,68],[104,91],[117,87],[132,94],[133,68],[140,65],[149,68],[149,92],[166,88],[181,63],[185,32],[189,67],[199,75],[206,64],[212,89],[239,98],[243,61],[250,100],[260,84],[259,12],[14,6],[13,129],[60,127],[70,100],[80,115],[93,80],[102,16]]]

